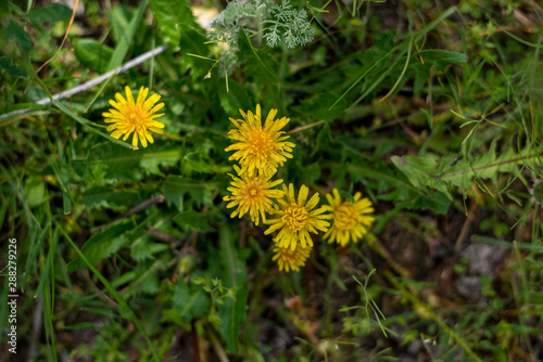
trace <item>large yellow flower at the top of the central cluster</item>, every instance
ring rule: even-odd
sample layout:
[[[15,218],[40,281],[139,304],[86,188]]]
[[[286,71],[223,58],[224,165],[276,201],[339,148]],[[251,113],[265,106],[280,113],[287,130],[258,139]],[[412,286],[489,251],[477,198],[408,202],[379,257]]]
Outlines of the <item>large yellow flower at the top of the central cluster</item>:
[[[228,134],[238,142],[225,148],[226,152],[236,151],[229,159],[239,160],[241,172],[248,170],[252,173],[255,169],[277,171],[277,166],[282,166],[287,157],[292,158],[290,152],[294,144],[285,142],[289,135],[282,135],[285,132],[281,131],[290,119],[282,117],[274,120],[277,109],[272,109],[263,127],[260,105],[256,105],[255,114],[251,111],[247,114],[241,109],[239,112],[243,119],[230,118],[237,129],[230,130]]]

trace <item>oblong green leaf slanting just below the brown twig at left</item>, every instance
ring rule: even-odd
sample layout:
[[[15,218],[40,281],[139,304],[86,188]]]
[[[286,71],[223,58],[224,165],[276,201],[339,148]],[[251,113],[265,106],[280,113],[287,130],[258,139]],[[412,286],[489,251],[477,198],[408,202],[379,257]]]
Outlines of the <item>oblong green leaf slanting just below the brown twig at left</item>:
[[[126,220],[103,232],[92,235],[81,248],[81,253],[90,263],[96,263],[117,251],[125,243],[125,232],[134,229],[134,222]],[[77,257],[68,263],[67,270],[75,271],[85,267],[85,261]]]

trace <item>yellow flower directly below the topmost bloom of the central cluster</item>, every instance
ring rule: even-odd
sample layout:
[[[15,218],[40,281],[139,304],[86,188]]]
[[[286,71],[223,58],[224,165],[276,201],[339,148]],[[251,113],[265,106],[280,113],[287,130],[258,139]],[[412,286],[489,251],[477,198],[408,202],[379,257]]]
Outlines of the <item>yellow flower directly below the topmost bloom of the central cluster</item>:
[[[238,174],[241,172],[240,168],[233,166]],[[230,174],[230,173],[228,173]],[[223,199],[225,202],[231,202],[226,205],[227,208],[237,206],[237,209],[230,215],[235,218],[237,215],[241,218],[243,215],[249,212],[251,216],[251,221],[256,225],[258,224],[260,217],[266,221],[266,212],[270,212],[274,208],[274,202],[272,198],[280,198],[283,196],[281,190],[269,190],[277,186],[282,182],[282,180],[269,181],[272,174],[263,173],[249,173],[244,172],[232,178],[231,185],[227,190],[231,192],[231,196],[225,196]]]

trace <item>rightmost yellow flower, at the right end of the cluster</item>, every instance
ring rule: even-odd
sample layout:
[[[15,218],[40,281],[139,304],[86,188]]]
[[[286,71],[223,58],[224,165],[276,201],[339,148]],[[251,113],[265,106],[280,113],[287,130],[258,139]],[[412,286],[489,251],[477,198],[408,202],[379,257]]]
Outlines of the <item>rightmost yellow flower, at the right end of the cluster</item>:
[[[326,195],[330,205],[323,207],[332,211],[328,217],[333,219],[331,228],[324,236],[329,237],[328,243],[336,241],[345,246],[350,240],[356,243],[367,233],[375,221],[375,218],[368,215],[374,212],[374,208],[368,198],[361,199],[361,197],[362,194],[357,192],[354,195],[354,203],[348,201],[342,203],[338,189],[333,189],[333,197],[330,194]]]

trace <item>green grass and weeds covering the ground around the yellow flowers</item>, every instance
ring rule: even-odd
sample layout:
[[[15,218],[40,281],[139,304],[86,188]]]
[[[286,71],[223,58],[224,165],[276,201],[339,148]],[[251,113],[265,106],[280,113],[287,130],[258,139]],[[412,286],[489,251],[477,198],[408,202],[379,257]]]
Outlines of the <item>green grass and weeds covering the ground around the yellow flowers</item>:
[[[190,11],[219,2],[0,5],[0,360],[542,360],[541,7],[292,1],[315,37],[291,49],[253,2],[228,49]],[[125,86],[165,104],[137,151],[102,116]],[[291,119],[286,184],[375,207],[300,272],[223,201],[256,104]]]

